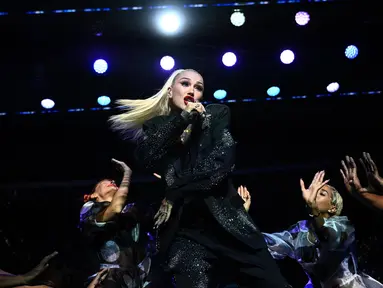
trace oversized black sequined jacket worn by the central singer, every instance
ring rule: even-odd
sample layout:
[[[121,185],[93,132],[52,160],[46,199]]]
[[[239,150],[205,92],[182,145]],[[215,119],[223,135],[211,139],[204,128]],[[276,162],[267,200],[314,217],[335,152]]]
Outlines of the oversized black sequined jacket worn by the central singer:
[[[139,162],[162,176],[166,199],[175,206],[201,198],[227,232],[250,248],[267,249],[230,181],[236,142],[229,132],[229,108],[221,104],[206,106],[206,117],[193,123],[191,137],[182,144],[181,134],[190,123],[193,120],[187,112],[147,121],[137,148]],[[174,210],[172,217],[179,217]],[[254,240],[255,235],[259,241]]]

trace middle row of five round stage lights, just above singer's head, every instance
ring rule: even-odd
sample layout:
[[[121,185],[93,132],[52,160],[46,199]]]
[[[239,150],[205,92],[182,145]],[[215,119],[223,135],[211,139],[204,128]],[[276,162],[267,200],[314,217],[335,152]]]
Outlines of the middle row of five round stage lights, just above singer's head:
[[[355,59],[359,50],[355,45],[350,45],[346,48],[344,52],[345,56],[348,59]],[[295,54],[292,50],[284,50],[280,55],[280,60],[283,64],[291,64],[295,60]],[[237,56],[233,52],[226,52],[222,56],[222,63],[226,67],[233,67],[237,63]],[[160,66],[164,70],[172,70],[176,62],[171,56],[164,56],[160,60]],[[104,59],[97,59],[93,63],[93,69],[98,74],[104,74],[109,68],[108,62]]]

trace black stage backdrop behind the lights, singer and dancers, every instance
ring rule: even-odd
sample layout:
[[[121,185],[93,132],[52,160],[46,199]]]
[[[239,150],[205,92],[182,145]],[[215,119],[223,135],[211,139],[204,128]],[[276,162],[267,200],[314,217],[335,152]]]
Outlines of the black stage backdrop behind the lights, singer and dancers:
[[[134,6],[128,2],[121,6]],[[9,12],[0,16],[0,112],[6,114],[0,116],[1,269],[23,273],[54,249],[66,262],[81,257],[76,237],[82,195],[103,177],[119,180],[112,157],[134,170],[131,201],[161,199],[155,178],[134,162],[134,146],[109,129],[107,119],[118,110],[91,108],[104,94],[112,100],[150,96],[169,75],[159,67],[160,58],[172,55],[176,68],[203,74],[206,101],[215,102],[216,89],[228,91],[225,103],[239,143],[234,181],[251,191],[251,213],[260,228],[273,232],[307,217],[299,178],[308,183],[317,170],[326,169],[344,195],[344,214],[355,223],[359,247],[364,247],[361,266],[377,278],[383,274],[381,216],[343,193],[339,173],[345,155],[358,158],[368,151],[378,165],[383,163],[382,95],[368,93],[382,89],[382,23],[376,7],[353,1],[245,6],[246,23],[240,28],[229,21],[231,6],[185,8],[189,23],[173,38],[153,32],[153,9],[24,13],[75,7],[67,4],[0,6]],[[97,2],[86,4],[97,7]],[[300,10],[311,15],[307,26],[295,24]],[[95,37],[97,31],[103,36]],[[354,60],[344,56],[351,44],[359,48]],[[296,55],[291,65],[279,60],[287,48]],[[238,56],[231,69],[220,60],[227,50]],[[97,58],[108,61],[105,75],[93,72]],[[339,92],[317,97],[327,95],[333,81],[340,83]],[[268,101],[266,90],[274,85],[281,88],[280,100]],[[56,102],[57,113],[41,113],[40,101],[47,97]],[[84,111],[67,112],[71,108]],[[291,284],[305,284],[297,264],[281,265]]]

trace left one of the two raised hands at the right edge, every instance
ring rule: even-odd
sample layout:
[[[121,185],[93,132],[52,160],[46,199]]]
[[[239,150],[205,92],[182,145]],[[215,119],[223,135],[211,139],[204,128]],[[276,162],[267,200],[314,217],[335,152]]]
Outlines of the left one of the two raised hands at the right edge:
[[[346,190],[351,194],[354,192],[368,192],[368,189],[362,187],[362,184],[360,184],[354,159],[352,157],[346,156],[345,161],[342,160],[341,165],[342,169],[340,169],[340,174],[342,175]]]

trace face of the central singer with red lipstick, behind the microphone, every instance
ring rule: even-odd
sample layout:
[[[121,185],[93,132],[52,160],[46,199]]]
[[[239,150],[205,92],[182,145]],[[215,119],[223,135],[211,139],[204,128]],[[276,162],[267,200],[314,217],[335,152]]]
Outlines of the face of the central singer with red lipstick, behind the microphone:
[[[195,102],[199,102],[203,95],[203,78],[200,74],[192,70],[180,73],[169,87],[169,97],[174,107],[185,109],[184,98],[192,96]]]

